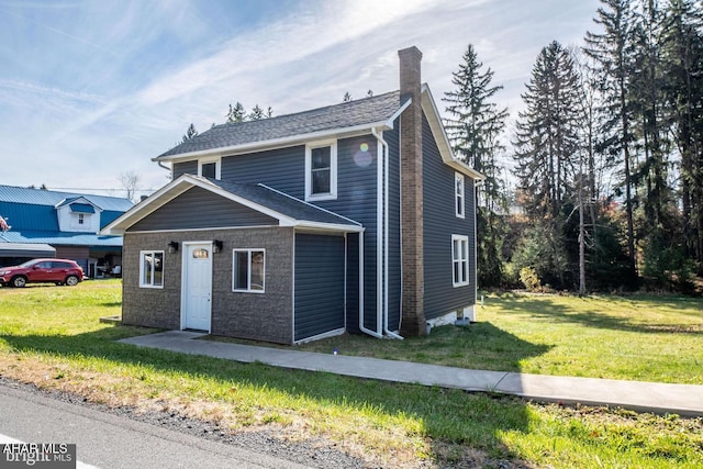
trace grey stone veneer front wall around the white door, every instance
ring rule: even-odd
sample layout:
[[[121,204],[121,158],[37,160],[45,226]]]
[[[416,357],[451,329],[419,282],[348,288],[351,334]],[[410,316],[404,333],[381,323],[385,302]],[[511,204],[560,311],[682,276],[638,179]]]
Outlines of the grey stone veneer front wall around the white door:
[[[126,233],[123,246],[122,322],[180,328],[183,242],[223,242],[213,254],[212,334],[282,344],[293,342],[292,228],[212,230],[169,233]],[[168,243],[179,249],[168,253]],[[265,293],[232,291],[232,249],[266,249]],[[140,288],[140,252],[164,250],[164,288]]]

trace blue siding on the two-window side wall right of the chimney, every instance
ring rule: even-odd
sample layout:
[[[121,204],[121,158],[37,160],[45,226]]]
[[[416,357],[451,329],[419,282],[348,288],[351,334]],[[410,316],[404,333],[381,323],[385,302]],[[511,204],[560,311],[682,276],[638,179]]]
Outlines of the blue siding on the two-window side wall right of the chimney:
[[[456,171],[444,164],[423,115],[424,311],[431,320],[476,302],[473,185],[465,177],[466,217],[455,212]],[[469,284],[453,287],[451,235],[469,236]]]

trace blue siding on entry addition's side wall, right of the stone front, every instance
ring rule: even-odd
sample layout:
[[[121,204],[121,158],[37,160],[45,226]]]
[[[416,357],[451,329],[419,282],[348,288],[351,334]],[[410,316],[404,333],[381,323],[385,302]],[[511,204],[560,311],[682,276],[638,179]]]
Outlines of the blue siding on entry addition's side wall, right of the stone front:
[[[344,237],[295,234],[294,339],[343,328]]]

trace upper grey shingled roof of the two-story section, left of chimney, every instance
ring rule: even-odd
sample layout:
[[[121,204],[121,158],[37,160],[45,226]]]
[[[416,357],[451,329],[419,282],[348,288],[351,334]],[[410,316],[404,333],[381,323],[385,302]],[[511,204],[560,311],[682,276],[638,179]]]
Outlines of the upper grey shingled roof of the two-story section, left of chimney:
[[[404,98],[404,97],[403,97]],[[338,130],[388,122],[402,107],[399,91],[365,98],[311,111],[216,125],[159,155],[155,160],[182,154],[236,147],[258,142],[280,141]]]

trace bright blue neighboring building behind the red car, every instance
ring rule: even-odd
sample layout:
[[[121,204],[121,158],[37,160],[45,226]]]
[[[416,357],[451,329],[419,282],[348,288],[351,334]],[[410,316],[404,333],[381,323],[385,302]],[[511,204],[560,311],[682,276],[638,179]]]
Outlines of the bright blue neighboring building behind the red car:
[[[122,236],[98,232],[132,206],[115,197],[0,186],[0,266],[59,257],[102,277],[122,265]]]

